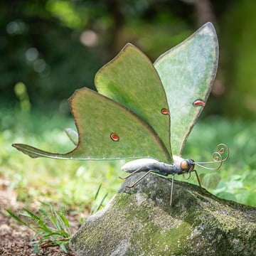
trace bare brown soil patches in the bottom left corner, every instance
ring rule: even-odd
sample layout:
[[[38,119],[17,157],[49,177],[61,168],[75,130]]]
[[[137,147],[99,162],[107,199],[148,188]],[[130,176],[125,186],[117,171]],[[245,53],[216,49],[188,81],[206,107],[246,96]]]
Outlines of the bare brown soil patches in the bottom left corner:
[[[9,191],[8,181],[4,181],[0,178],[0,255],[29,255],[29,256],[73,256],[73,252],[65,253],[59,247],[46,247],[41,248],[40,252],[36,254],[33,251],[33,242],[31,238],[33,237],[33,231],[20,225],[16,220],[11,218],[8,213],[6,213],[5,208],[11,209],[14,213],[22,211],[24,207],[23,203],[16,201],[16,194],[14,191]],[[38,205],[31,206],[32,210],[36,210]],[[30,208],[30,209],[31,209]],[[67,216],[70,226],[72,228],[72,233],[78,230],[80,224],[78,223],[78,215],[68,215]]]

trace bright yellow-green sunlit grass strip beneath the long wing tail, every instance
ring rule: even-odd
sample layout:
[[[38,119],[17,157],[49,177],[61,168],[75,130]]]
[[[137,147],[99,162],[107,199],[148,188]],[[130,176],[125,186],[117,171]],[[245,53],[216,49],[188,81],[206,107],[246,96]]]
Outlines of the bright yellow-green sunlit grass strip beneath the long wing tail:
[[[107,192],[112,196],[119,187],[118,162],[30,159],[18,151],[11,155],[14,159],[1,168],[1,175],[12,180],[13,188],[25,201],[28,196],[71,206],[90,204],[99,184],[102,196]]]

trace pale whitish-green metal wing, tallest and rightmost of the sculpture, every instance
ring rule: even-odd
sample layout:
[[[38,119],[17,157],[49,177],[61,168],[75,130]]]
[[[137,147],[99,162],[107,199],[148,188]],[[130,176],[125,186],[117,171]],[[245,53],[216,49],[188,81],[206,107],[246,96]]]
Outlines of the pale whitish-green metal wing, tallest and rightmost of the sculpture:
[[[173,154],[181,155],[217,71],[218,39],[212,23],[206,23],[161,55],[154,66],[164,85],[171,114],[171,149]]]

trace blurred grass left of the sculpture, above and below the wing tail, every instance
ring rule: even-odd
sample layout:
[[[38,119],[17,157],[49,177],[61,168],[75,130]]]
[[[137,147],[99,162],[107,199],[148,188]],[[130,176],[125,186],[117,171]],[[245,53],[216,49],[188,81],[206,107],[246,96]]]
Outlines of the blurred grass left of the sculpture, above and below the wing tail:
[[[18,142],[50,151],[69,151],[75,146],[64,129],[74,128],[72,119],[58,115],[53,119],[42,113],[26,114],[22,119],[21,113],[12,114],[18,122],[13,122],[14,125],[8,129],[1,129],[0,133],[0,177],[11,181],[9,188],[18,193],[19,200],[60,201],[69,206],[90,208],[106,193],[107,199],[116,193],[121,183],[118,178],[120,161],[31,159],[11,146]],[[20,129],[21,122],[24,126]],[[33,124],[38,130],[33,128]],[[100,184],[100,194],[94,202],[95,191]]]

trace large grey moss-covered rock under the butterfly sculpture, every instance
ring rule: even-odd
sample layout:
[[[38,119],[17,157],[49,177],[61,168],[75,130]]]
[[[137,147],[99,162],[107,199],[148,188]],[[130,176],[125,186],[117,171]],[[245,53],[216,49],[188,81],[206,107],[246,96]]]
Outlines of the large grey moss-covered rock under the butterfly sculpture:
[[[213,195],[198,186],[149,174],[124,181],[70,241],[76,255],[256,255],[256,208]]]

